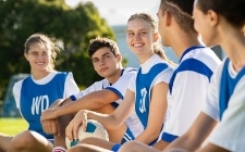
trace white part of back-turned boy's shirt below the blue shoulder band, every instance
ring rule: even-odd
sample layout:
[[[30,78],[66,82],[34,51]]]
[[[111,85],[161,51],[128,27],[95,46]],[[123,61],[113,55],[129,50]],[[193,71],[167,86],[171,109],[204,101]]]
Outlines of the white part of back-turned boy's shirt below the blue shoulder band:
[[[168,91],[167,122],[163,140],[182,136],[196,119],[205,101],[209,79],[194,72],[180,72],[172,88]]]

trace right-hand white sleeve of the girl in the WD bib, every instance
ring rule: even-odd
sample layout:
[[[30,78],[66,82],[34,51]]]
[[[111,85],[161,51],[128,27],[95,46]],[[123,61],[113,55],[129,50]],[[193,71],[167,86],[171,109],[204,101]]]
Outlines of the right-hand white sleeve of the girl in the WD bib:
[[[69,98],[70,96],[76,94],[77,92],[79,92],[79,88],[73,78],[73,74],[70,72],[65,79],[63,98]]]

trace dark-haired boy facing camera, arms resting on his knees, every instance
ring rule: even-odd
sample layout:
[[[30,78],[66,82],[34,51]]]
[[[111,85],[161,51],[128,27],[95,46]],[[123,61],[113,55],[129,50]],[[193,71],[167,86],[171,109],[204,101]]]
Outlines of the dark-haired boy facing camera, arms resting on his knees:
[[[97,37],[90,41],[88,55],[95,71],[105,79],[96,81],[87,89],[68,99],[61,100],[60,106],[42,112],[41,122],[56,119],[62,115],[76,113],[79,110],[91,110],[110,114],[122,102],[131,77],[137,72],[135,68],[122,66],[122,55],[115,41]],[[61,106],[62,104],[62,106]],[[135,125],[138,118],[133,112],[125,124],[118,129],[107,129],[110,141],[121,143],[126,140],[126,134],[138,134]],[[127,128],[126,128],[127,127]],[[56,134],[56,128],[44,126],[48,134]],[[52,130],[52,131],[50,131]],[[126,134],[125,134],[126,131]],[[125,135],[124,135],[125,134]]]

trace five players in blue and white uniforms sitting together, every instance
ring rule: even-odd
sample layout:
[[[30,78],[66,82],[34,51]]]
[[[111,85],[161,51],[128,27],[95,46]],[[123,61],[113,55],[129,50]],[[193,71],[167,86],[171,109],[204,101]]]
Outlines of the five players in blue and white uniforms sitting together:
[[[244,5],[244,0],[161,0],[158,22],[133,14],[126,42],[140,67],[123,67],[115,41],[96,37],[88,55],[103,79],[82,91],[71,72],[56,71],[56,42],[32,35],[24,50],[30,76],[13,88],[28,129],[0,134],[0,151],[243,152]],[[173,49],[177,64],[160,43]],[[222,62],[210,49],[217,45],[226,54]],[[90,137],[66,150],[65,137],[77,139],[87,119],[101,123],[110,141]]]

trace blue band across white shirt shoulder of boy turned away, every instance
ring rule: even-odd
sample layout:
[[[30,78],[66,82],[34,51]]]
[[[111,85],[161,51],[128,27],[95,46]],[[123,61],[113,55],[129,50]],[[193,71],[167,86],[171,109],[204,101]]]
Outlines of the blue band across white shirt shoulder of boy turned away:
[[[204,62],[196,60],[196,59],[186,59],[173,72],[173,75],[169,83],[170,93],[172,93],[173,83],[174,83],[174,79],[175,79],[177,73],[185,72],[185,71],[192,71],[192,72],[196,72],[198,74],[205,75],[208,77],[209,81],[212,76],[212,71]]]

